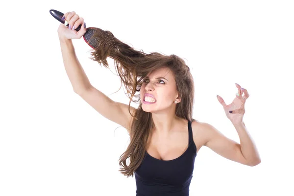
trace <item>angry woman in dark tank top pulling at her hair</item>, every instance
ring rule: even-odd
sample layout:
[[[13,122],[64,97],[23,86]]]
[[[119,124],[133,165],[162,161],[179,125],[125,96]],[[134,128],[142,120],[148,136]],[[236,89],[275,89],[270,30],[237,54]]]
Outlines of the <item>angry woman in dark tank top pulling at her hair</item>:
[[[120,171],[127,177],[135,174],[137,196],[188,196],[194,161],[202,146],[248,166],[261,162],[243,122],[249,95],[240,85],[236,84],[238,93],[231,104],[226,105],[220,96],[218,100],[242,145],[226,138],[212,125],[192,118],[194,81],[181,58],[134,50],[110,31],[99,29],[91,38],[98,40],[92,59],[105,67],[107,57],[115,60],[130,102],[139,102],[139,107],[105,96],[90,84],[74,53],[71,39],[79,39],[86,32],[84,19],[75,12],[67,12],[63,20],[69,27],[61,24],[58,35],[73,91],[102,116],[128,130],[130,144],[120,157]],[[79,25],[81,29],[74,30]]]

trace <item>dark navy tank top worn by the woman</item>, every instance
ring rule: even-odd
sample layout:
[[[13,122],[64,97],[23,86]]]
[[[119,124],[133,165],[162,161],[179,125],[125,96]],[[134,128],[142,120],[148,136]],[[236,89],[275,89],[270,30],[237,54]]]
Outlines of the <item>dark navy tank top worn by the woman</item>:
[[[181,156],[166,161],[145,152],[143,162],[134,172],[136,196],[189,196],[196,158],[191,123],[188,121],[189,146]]]

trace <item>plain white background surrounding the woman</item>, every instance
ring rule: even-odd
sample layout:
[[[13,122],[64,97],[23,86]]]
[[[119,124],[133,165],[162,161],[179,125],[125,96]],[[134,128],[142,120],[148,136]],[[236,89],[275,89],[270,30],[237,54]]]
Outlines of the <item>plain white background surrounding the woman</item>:
[[[49,13],[75,11],[149,53],[184,58],[195,80],[193,117],[240,142],[217,99],[247,89],[245,125],[262,162],[248,167],[207,147],[190,196],[293,196],[294,6],[291,0],[8,1],[1,9],[0,196],[135,196],[119,170],[129,137],[73,92]],[[92,85],[128,103],[119,77],[73,40]],[[113,60],[109,59],[110,65]],[[102,103],[101,103],[102,104]],[[133,106],[137,106],[132,103]],[[117,129],[116,129],[117,128]]]

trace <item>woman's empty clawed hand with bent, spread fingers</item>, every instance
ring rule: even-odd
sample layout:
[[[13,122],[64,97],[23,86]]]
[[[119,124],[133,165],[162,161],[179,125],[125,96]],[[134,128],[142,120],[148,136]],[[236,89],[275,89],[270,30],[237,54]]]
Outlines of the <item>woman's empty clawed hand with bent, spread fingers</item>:
[[[243,122],[243,116],[245,114],[245,101],[249,97],[249,94],[246,89],[241,88],[239,84],[236,84],[238,88],[238,93],[236,93],[236,98],[234,98],[233,102],[229,105],[226,105],[224,100],[218,97],[223,109],[225,111],[225,115],[233,124],[239,124]],[[244,96],[242,94],[244,93]],[[229,113],[232,111],[232,113]]]

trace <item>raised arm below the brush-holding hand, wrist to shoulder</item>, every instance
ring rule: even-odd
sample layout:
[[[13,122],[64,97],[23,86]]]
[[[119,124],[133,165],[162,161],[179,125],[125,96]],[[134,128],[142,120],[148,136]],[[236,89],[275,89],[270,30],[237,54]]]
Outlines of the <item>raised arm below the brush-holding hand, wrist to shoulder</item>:
[[[72,40],[60,38],[60,46],[65,70],[72,83],[73,91],[89,103],[99,114],[122,125],[130,134],[129,129],[133,117],[128,111],[128,105],[113,101],[91,85],[75,55]],[[133,115],[135,111],[136,109],[130,106],[130,112]]]

